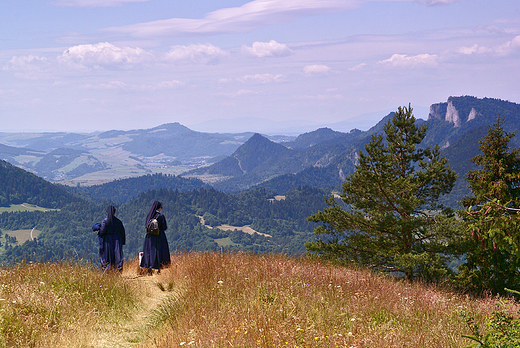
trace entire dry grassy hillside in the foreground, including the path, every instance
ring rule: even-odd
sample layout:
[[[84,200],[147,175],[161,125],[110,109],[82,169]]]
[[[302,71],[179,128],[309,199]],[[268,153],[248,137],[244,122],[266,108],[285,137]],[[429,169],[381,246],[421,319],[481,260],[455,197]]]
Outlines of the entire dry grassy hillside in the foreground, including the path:
[[[20,264],[0,282],[0,347],[462,347],[461,311],[483,325],[498,301],[272,254],[175,254],[153,276]]]

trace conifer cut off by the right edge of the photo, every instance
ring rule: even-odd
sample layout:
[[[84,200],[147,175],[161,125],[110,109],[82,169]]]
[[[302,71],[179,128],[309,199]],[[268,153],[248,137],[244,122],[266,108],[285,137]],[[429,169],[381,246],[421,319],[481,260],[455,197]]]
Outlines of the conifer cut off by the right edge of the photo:
[[[473,292],[504,288],[520,290],[520,149],[509,149],[516,133],[506,132],[500,117],[471,159],[479,169],[466,180],[472,196],[465,197],[460,215],[468,227],[466,262],[459,278]]]

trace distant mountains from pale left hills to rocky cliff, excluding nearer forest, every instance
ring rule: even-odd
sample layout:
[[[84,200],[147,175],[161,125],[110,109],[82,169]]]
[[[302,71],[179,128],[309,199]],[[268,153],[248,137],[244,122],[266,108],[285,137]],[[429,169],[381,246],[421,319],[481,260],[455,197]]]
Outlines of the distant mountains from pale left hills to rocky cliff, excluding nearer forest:
[[[320,128],[294,136],[203,133],[179,123],[150,129],[102,133],[0,133],[0,158],[47,180],[92,185],[114,179],[165,173],[197,178],[226,192],[262,186],[284,193],[299,185],[338,188],[353,172],[359,151],[383,131],[393,113],[367,131]],[[454,191],[478,153],[478,141],[495,122],[520,129],[520,105],[500,99],[449,97],[430,106],[423,145],[438,144],[459,173]],[[518,145],[518,137],[512,142]]]

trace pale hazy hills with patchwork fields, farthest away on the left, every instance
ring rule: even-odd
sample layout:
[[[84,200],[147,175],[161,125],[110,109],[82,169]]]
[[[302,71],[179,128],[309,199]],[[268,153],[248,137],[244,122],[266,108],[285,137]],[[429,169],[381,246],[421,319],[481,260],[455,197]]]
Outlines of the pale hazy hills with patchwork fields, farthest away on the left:
[[[252,134],[201,133],[179,123],[88,134],[0,133],[0,158],[47,180],[93,185],[144,174],[179,174],[230,155]]]

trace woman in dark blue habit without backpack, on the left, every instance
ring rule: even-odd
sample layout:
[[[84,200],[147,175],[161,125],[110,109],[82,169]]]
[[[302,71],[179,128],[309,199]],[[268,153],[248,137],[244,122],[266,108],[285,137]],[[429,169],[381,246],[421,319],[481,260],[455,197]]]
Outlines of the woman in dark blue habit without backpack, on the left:
[[[116,208],[107,207],[107,217],[101,222],[98,236],[99,260],[101,268],[106,271],[112,268],[119,272],[123,270],[123,245],[126,243],[125,227],[121,220],[115,217]]]

